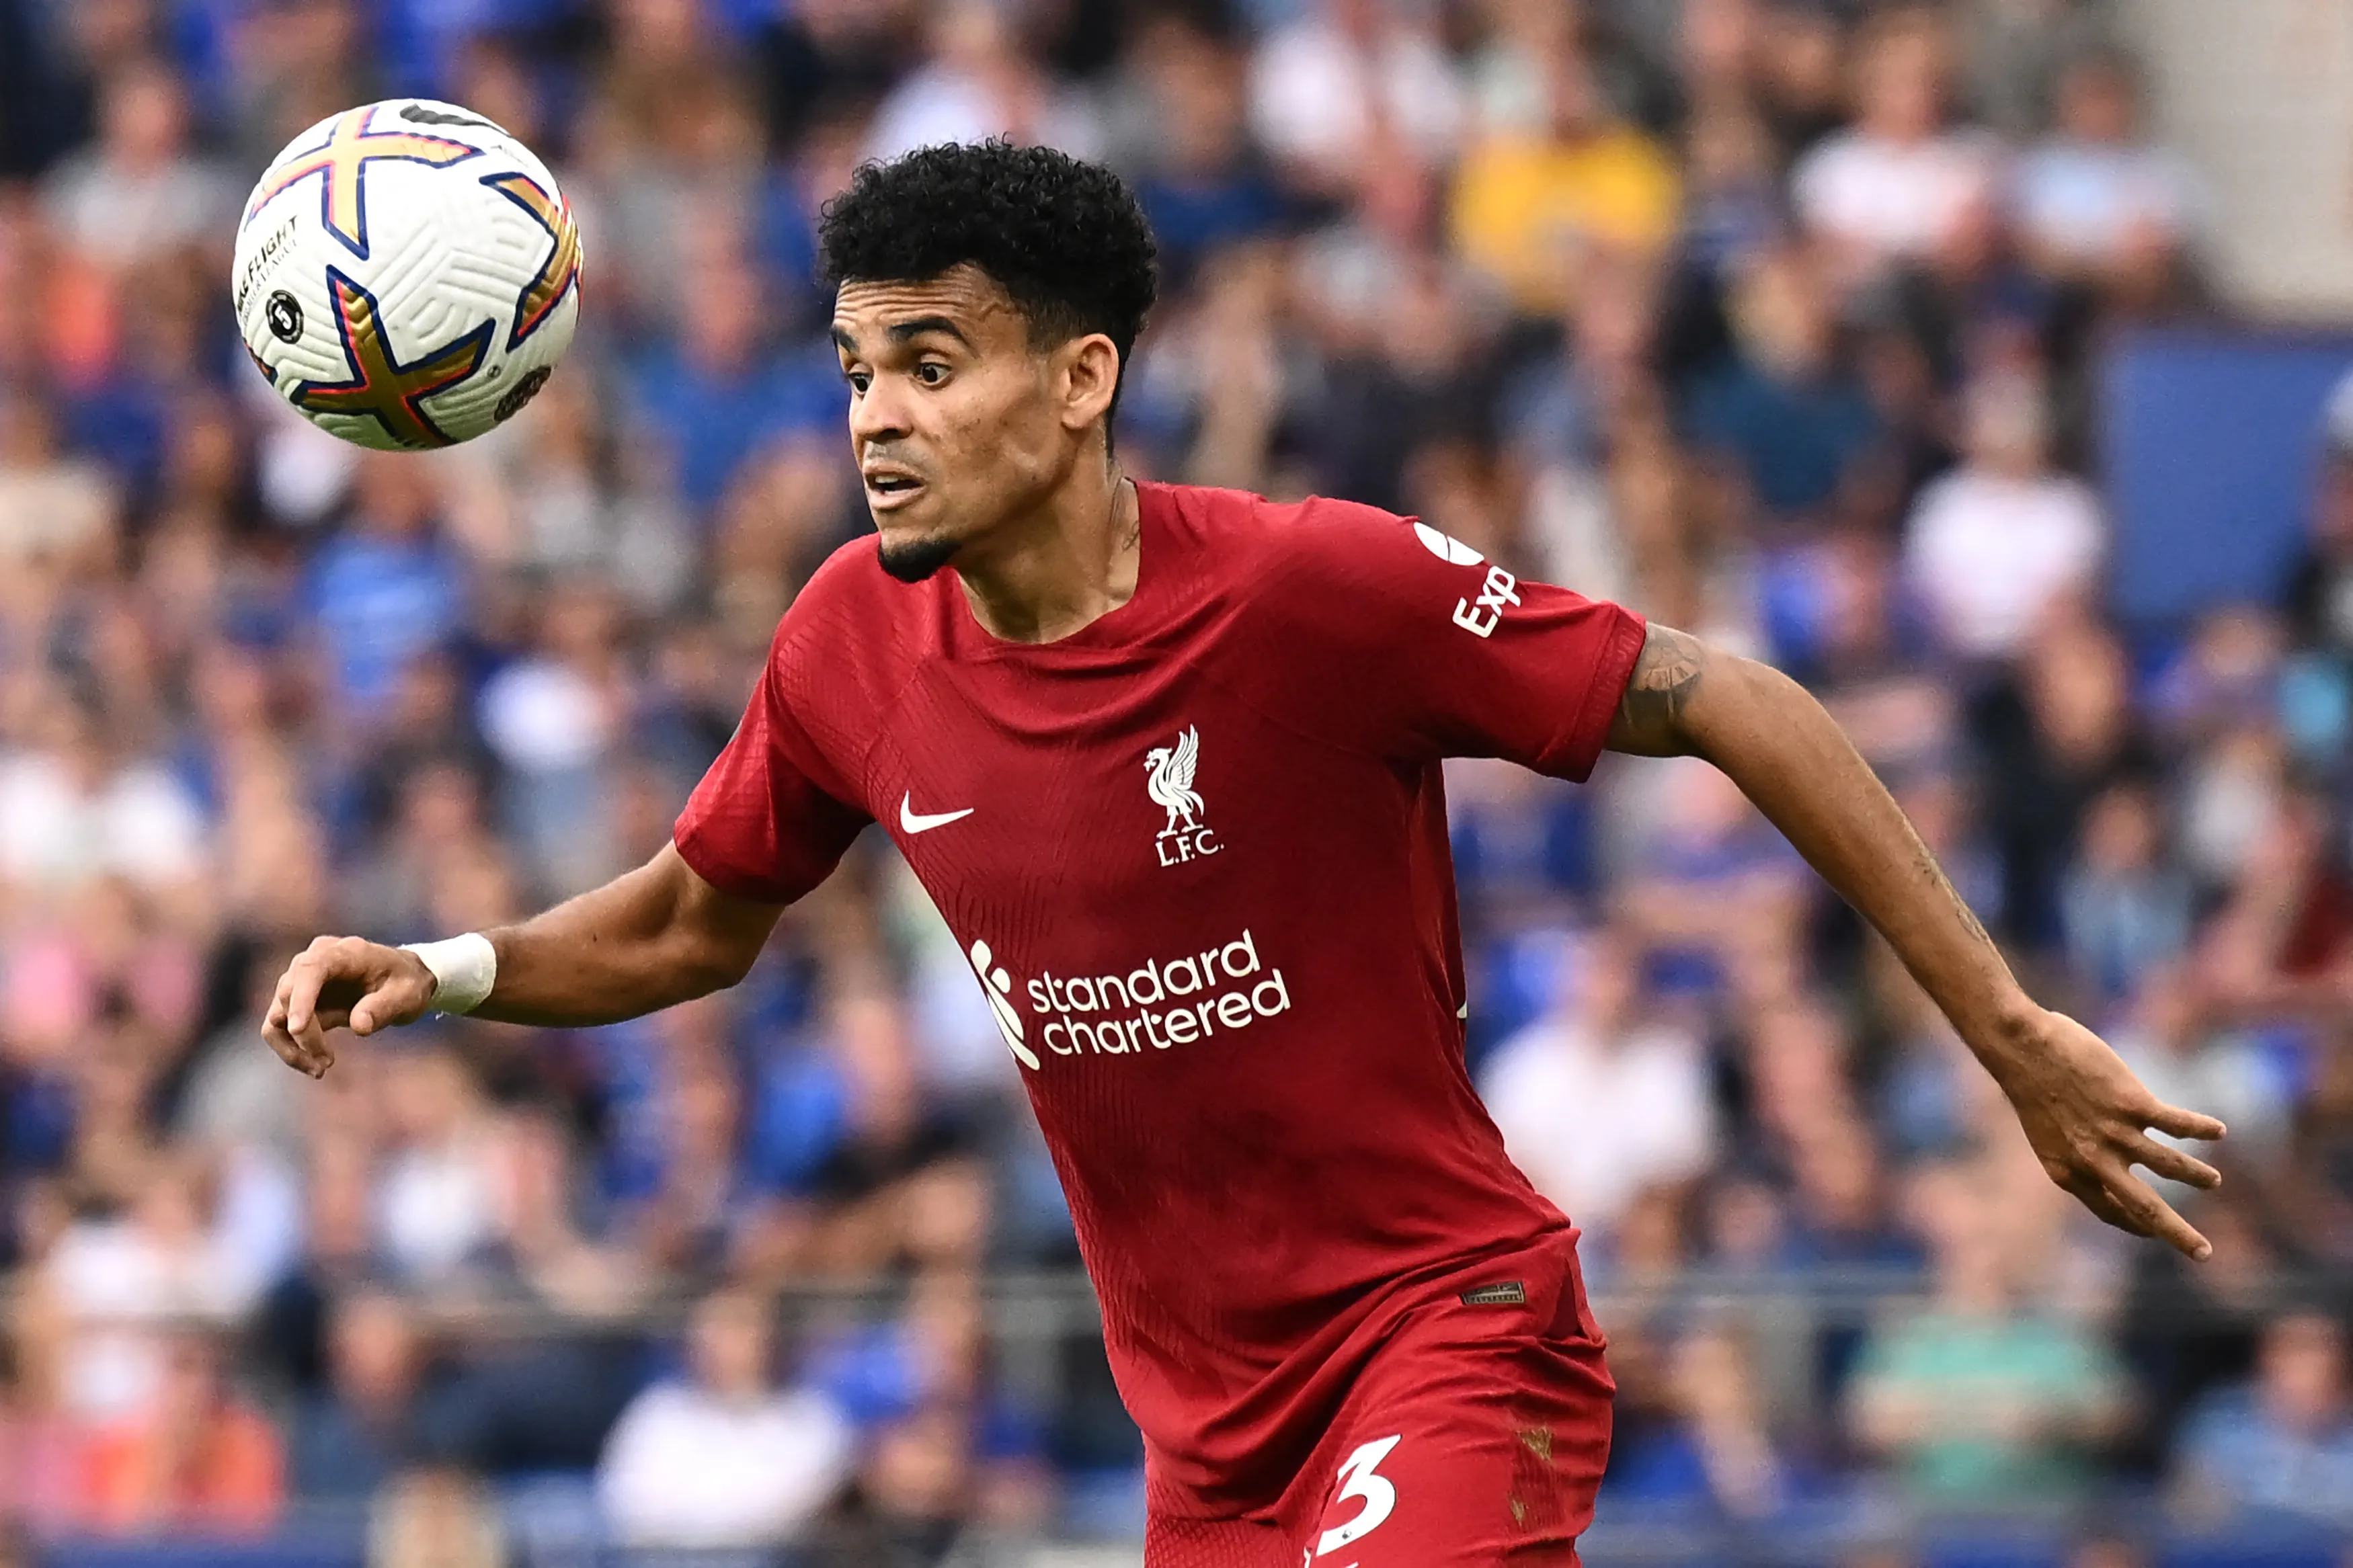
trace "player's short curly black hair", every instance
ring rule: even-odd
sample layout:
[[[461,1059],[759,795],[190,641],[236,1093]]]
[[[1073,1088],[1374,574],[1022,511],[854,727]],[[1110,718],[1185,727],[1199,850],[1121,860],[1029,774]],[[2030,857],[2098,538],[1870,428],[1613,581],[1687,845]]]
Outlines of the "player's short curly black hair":
[[[1122,381],[1158,294],[1153,228],[1120,176],[1012,141],[861,165],[826,202],[816,237],[828,289],[939,277],[969,261],[1012,296],[1031,341],[1108,336]]]

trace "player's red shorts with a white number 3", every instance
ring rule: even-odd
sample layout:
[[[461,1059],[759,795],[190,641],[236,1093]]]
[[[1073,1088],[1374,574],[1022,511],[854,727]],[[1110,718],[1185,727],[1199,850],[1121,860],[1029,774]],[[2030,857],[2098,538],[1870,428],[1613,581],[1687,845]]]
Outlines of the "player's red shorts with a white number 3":
[[[1144,1568],[1572,1568],[1612,1394],[1574,1253],[1485,1265],[1402,1314],[1271,1516],[1155,1509]]]

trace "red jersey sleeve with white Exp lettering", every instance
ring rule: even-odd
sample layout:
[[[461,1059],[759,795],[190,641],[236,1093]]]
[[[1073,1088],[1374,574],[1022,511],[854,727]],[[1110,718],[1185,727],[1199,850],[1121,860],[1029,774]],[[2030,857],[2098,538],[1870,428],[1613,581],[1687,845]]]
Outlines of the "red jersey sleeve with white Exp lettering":
[[[1271,656],[1348,745],[1506,757],[1586,778],[1642,654],[1642,616],[1513,576],[1353,501],[1271,508]]]

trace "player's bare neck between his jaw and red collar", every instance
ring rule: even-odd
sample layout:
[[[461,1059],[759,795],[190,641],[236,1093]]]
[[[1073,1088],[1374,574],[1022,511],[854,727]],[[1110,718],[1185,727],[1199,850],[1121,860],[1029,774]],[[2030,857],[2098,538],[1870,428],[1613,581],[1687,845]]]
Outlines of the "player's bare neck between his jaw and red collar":
[[[965,545],[955,576],[991,637],[1059,642],[1136,595],[1141,531],[1120,465],[1085,463],[1035,512]]]

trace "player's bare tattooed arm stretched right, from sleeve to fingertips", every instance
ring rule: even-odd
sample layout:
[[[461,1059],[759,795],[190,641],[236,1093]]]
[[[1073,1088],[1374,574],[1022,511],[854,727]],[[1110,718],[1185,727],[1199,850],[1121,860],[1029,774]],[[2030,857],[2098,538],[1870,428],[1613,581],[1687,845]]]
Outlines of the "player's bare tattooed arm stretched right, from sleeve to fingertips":
[[[2193,1187],[2221,1175],[2167,1147],[2221,1138],[2214,1117],[2158,1100],[2097,1034],[2035,1006],[1986,926],[1821,703],[1779,670],[1652,625],[1609,726],[1609,750],[1706,757],[1878,926],[2019,1112],[2066,1192],[2108,1225],[2191,1258],[2207,1241],[2132,1173]]]

